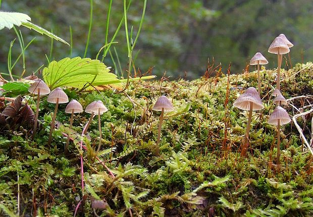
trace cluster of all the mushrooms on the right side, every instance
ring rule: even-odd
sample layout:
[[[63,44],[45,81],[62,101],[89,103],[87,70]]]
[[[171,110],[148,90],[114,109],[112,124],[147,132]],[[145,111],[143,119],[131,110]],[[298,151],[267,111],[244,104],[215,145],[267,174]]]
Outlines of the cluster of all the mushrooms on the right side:
[[[282,64],[282,56],[286,53],[289,53],[289,48],[292,47],[293,44],[286,38],[284,34],[280,34],[278,37],[274,39],[272,44],[269,47],[270,53],[277,54],[277,83],[276,89],[273,91],[272,95],[275,96],[273,103],[276,104],[276,108],[271,114],[268,123],[272,125],[277,125],[277,159],[276,164],[280,164],[280,125],[285,125],[289,123],[290,117],[286,110],[281,107],[282,104],[288,104],[287,100],[280,92],[280,68]],[[265,65],[269,62],[262,55],[262,53],[257,52],[250,60],[250,65],[257,65],[257,80],[258,80],[258,91],[254,87],[249,87],[242,95],[240,95],[234,102],[234,106],[238,107],[242,110],[249,111],[248,122],[246,127],[246,136],[245,142],[243,143],[241,154],[244,155],[247,147],[249,146],[249,131],[251,124],[252,111],[262,110],[264,105],[260,99],[259,94],[261,93],[260,87],[260,75],[259,75],[259,65]]]

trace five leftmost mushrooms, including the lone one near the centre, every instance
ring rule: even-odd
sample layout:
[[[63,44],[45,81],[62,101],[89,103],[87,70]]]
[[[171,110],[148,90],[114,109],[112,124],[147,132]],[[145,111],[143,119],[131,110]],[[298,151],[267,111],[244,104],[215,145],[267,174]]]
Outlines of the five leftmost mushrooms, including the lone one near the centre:
[[[51,122],[50,126],[50,134],[49,134],[49,140],[48,140],[48,145],[50,145],[51,140],[52,140],[52,133],[55,128],[55,120],[58,112],[58,106],[60,103],[67,103],[69,102],[68,96],[66,93],[61,89],[61,88],[56,88],[53,91],[50,91],[49,87],[41,80],[37,79],[34,83],[32,83],[28,89],[28,91],[32,94],[37,95],[37,106],[36,106],[36,115],[35,115],[35,122],[34,122],[34,129],[33,129],[33,135],[32,138],[34,138],[34,135],[36,134],[36,129],[37,129],[37,120],[38,120],[38,111],[39,111],[39,102],[40,102],[40,95],[46,95],[49,94],[47,97],[47,101],[50,103],[55,103],[55,112],[53,115],[53,119]],[[160,155],[159,151],[159,143],[160,143],[160,138],[161,138],[161,128],[162,128],[162,122],[163,122],[163,115],[164,112],[171,112],[174,110],[173,104],[171,101],[166,97],[166,96],[161,96],[154,104],[152,110],[154,111],[161,111],[161,116],[160,116],[160,125],[159,125],[159,131],[158,131],[158,140],[156,142],[156,147],[155,147],[155,154]],[[98,101],[93,101],[89,105],[86,106],[85,112],[91,114],[90,119],[87,123],[87,127],[85,131],[87,131],[93,116],[98,115],[98,127],[99,127],[99,145],[97,147],[96,155],[98,154],[101,146],[101,137],[102,137],[102,132],[101,132],[101,122],[100,122],[100,116],[107,112],[108,108],[103,104],[101,100]],[[82,105],[75,99],[72,99],[68,105],[65,108],[65,112],[71,114],[71,120],[70,120],[70,130],[72,129],[73,125],[73,117],[75,113],[81,113],[83,112],[83,107]],[[83,132],[85,134],[85,132]],[[69,141],[70,141],[70,136],[68,136],[66,146],[65,146],[65,153],[68,151],[68,146],[69,146]],[[95,155],[95,156],[96,156]]]

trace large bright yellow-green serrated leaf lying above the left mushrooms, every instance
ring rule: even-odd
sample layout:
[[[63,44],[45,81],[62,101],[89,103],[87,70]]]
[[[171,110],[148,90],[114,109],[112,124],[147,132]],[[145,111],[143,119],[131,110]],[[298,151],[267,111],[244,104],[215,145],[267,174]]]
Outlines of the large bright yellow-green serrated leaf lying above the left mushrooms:
[[[43,69],[42,75],[51,90],[61,86],[81,88],[93,82],[96,82],[93,83],[94,85],[120,82],[115,74],[110,73],[105,64],[98,60],[80,57],[53,61]]]

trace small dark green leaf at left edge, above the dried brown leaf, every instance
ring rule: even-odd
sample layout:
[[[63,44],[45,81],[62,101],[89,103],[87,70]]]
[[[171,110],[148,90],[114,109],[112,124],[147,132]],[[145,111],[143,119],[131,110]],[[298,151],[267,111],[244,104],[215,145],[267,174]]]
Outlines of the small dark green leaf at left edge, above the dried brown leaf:
[[[2,94],[9,97],[24,95],[28,93],[30,84],[26,82],[12,81],[4,84],[2,88],[5,90]]]

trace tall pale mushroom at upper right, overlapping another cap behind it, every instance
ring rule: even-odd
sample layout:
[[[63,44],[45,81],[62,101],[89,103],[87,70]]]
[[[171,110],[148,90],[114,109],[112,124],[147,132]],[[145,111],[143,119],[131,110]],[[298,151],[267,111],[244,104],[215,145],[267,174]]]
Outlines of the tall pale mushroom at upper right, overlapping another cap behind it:
[[[270,53],[277,54],[277,83],[276,88],[280,89],[280,68],[282,65],[283,54],[288,53],[289,47],[286,42],[281,37],[276,37],[274,41],[271,43],[269,50]]]

